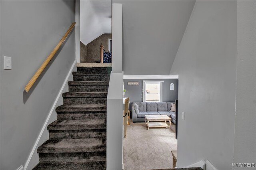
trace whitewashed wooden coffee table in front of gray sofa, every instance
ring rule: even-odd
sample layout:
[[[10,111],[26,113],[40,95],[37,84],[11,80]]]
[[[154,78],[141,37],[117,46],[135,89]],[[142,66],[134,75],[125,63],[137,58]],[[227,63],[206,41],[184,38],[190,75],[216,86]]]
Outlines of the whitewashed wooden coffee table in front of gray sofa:
[[[169,121],[169,125],[166,121]],[[145,123],[148,129],[151,127],[171,128],[171,118],[167,115],[145,115]]]

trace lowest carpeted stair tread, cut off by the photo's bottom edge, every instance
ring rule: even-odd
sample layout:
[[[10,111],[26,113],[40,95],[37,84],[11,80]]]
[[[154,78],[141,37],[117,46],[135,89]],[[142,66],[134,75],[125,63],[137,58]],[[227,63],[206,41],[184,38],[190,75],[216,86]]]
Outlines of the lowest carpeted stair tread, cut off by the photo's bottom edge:
[[[106,161],[39,162],[33,170],[104,170]]]

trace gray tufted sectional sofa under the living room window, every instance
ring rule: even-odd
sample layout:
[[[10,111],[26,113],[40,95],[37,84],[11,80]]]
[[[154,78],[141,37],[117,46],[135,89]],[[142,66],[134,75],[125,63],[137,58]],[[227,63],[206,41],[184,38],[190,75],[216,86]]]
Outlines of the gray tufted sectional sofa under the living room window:
[[[167,115],[176,124],[176,113],[170,111],[175,102],[133,102],[132,122],[144,122],[145,115]]]

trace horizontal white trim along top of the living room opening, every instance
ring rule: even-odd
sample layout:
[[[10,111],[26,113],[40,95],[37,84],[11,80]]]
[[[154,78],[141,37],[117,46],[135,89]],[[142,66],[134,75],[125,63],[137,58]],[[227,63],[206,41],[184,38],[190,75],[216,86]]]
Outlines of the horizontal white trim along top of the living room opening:
[[[124,79],[178,79],[179,75],[124,75]]]

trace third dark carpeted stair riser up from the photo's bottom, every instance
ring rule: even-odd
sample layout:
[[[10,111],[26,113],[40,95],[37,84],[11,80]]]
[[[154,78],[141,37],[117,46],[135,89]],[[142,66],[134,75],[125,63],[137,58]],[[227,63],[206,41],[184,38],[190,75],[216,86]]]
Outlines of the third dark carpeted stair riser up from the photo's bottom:
[[[57,113],[57,120],[106,119],[107,113],[64,112]]]

